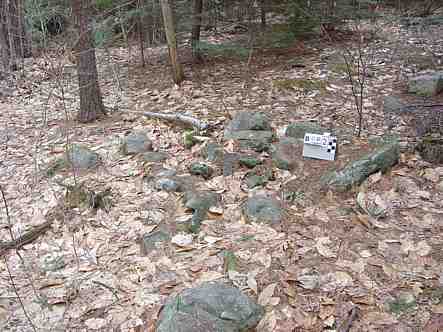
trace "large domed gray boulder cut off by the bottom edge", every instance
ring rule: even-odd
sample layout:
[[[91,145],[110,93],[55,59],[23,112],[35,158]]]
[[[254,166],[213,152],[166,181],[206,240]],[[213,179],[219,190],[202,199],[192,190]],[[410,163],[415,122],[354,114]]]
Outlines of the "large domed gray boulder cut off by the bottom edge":
[[[156,332],[244,332],[253,329],[263,314],[264,309],[239,289],[205,283],[169,299]]]

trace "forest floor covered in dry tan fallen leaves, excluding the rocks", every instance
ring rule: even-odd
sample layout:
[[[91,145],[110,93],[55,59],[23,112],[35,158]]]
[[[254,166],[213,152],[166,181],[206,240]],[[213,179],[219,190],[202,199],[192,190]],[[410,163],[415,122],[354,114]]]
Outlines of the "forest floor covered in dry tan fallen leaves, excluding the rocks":
[[[266,306],[259,331],[344,331],[338,327],[346,322],[352,325],[349,331],[443,329],[443,167],[413,152],[402,153],[388,173],[376,173],[345,194],[320,194],[312,183],[299,183],[304,198],[282,202],[287,220],[278,229],[242,218],[242,202],[257,192],[242,185],[245,171],[207,181],[196,178],[197,188],[222,194],[223,212],[211,214],[191,243],[140,253],[141,235],[189,212],[180,195],[147,184],[150,165],[122,157],[120,139],[147,130],[154,148],[172,156],[163,166],[180,174],[188,174],[201,148],[185,149],[182,128],[142,113],[192,114],[211,123],[210,136],[216,141],[222,141],[233,114],[245,110],[266,113],[277,134],[289,123],[306,120],[352,132],[357,115],[339,56],[345,47],[355,46],[349,38],[337,35],[336,41],[307,40],[284,50],[257,51],[249,61],[214,56],[198,65],[185,63],[186,81],[180,87],[171,83],[164,48],[148,50],[144,68],[134,48],[130,61],[125,48],[99,50],[100,83],[110,112],[88,125],[71,120],[78,108],[73,65],[63,56],[27,60],[18,88],[0,100],[5,194],[0,239],[11,239],[10,231],[18,237],[48,220],[52,227],[19,251],[2,253],[1,330],[32,331],[32,321],[38,331],[145,331],[137,328],[141,325],[151,331],[170,294],[223,278]],[[414,31],[381,24],[366,49],[373,55],[365,126],[361,138],[343,142],[357,151],[388,133],[383,96],[443,103],[441,94],[419,100],[405,92],[407,77],[420,66],[429,68],[432,54],[443,54],[441,25]],[[443,68],[442,63],[433,65]],[[54,74],[57,68],[64,68],[62,76]],[[294,79],[321,85],[282,88]],[[389,130],[402,138],[411,133],[401,119]],[[47,177],[44,169],[71,142],[103,157],[101,167],[76,174],[75,180],[98,191],[110,188],[108,211],[60,208],[65,196],[60,183],[72,183],[74,175]],[[224,144],[227,150],[232,146]],[[316,162],[307,167],[300,160],[296,171],[275,169],[275,179],[258,190],[278,197],[288,181],[309,178]],[[385,218],[371,221],[359,212],[359,190],[382,202]],[[237,258],[235,273],[226,272],[224,250]]]

